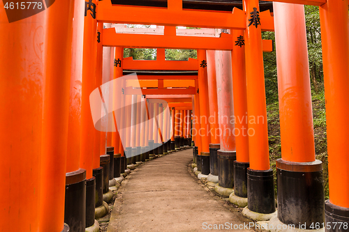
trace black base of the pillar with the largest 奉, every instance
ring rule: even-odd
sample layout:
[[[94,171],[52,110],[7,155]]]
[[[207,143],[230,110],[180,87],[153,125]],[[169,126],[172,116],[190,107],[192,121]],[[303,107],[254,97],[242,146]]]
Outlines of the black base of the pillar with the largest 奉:
[[[275,212],[273,170],[247,169],[248,209],[269,214]]]

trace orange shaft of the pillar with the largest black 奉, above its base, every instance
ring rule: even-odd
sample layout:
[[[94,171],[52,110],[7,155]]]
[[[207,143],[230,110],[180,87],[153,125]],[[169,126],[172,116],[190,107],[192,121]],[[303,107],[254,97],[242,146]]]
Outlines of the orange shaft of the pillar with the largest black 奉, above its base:
[[[267,103],[265,100],[261,27],[258,22],[248,26],[250,23],[248,20],[252,19],[251,13],[254,10],[260,11],[259,2],[258,0],[246,0],[244,1],[244,8],[246,10],[244,40],[250,168],[253,170],[269,170]]]

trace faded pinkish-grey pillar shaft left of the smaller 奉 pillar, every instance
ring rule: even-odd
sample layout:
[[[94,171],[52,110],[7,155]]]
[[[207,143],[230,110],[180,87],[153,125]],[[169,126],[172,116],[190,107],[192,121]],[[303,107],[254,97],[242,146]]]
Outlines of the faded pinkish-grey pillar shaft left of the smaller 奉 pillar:
[[[234,102],[232,99],[232,59],[230,51],[216,51],[218,121],[223,151],[235,151]]]

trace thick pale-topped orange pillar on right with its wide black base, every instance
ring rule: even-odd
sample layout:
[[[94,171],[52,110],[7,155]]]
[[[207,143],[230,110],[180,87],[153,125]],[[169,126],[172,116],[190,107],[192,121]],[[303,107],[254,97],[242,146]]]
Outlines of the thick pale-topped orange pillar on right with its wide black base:
[[[304,6],[273,6],[282,146],[282,158],[276,160],[278,218],[296,227],[305,224],[302,229],[311,229],[312,223],[322,228],[322,162],[315,161]]]

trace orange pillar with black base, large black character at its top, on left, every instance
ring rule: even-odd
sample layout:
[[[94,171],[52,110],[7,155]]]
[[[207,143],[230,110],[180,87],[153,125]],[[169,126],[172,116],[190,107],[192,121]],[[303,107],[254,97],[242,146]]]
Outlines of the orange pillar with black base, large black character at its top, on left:
[[[86,173],[86,227],[94,226],[96,179],[92,176],[94,156],[94,122],[89,105],[89,95],[94,91],[96,74],[97,20],[93,8],[97,1],[91,1],[92,10],[84,14],[84,47],[82,56],[82,99],[81,99],[81,144],[80,167]]]

